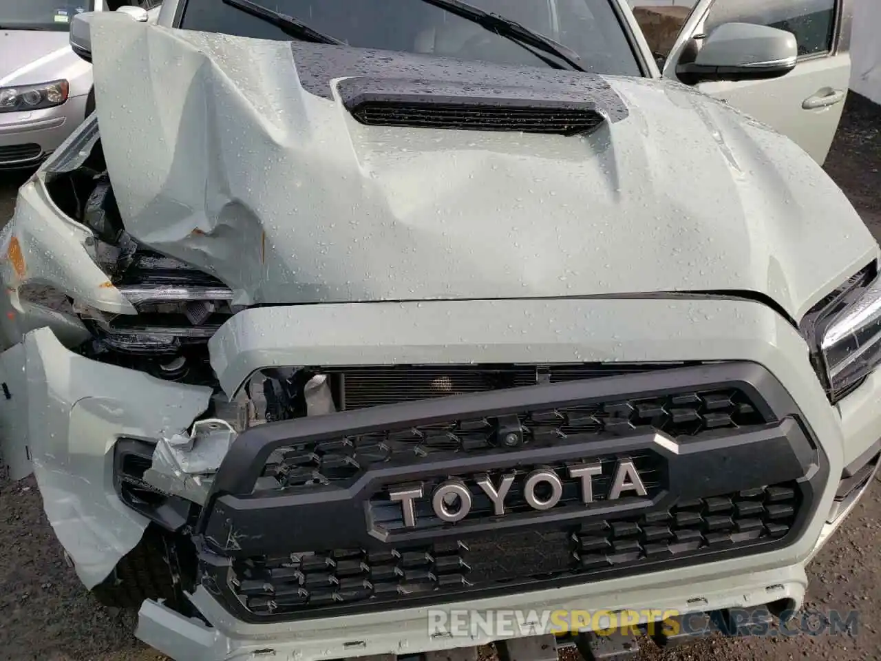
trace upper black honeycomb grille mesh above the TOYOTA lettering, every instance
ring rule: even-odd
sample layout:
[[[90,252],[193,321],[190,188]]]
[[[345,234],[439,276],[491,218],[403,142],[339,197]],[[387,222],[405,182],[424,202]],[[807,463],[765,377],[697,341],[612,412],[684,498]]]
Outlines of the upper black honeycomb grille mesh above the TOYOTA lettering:
[[[347,381],[348,383],[348,377]],[[262,489],[350,482],[375,464],[420,464],[497,451],[500,428],[519,428],[522,446],[559,445],[651,431],[673,438],[761,425],[766,420],[742,390],[673,392],[590,405],[537,409],[511,420],[487,416],[387,429],[277,449],[263,471]]]

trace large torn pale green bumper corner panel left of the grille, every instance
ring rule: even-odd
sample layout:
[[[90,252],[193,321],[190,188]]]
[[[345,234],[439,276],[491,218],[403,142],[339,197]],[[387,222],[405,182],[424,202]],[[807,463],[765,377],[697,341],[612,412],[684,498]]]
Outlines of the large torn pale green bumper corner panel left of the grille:
[[[27,436],[43,509],[80,580],[92,588],[147,525],[116,495],[116,439],[180,434],[204,412],[211,389],[85,359],[48,328],[28,333],[24,346]]]

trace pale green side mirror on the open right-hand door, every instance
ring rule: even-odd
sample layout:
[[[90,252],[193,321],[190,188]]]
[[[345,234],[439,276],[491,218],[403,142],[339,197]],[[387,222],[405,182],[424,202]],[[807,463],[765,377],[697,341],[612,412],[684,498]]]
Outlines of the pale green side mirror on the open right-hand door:
[[[686,85],[710,80],[780,78],[796,68],[796,35],[751,23],[724,23],[704,39],[692,63],[677,66]]]

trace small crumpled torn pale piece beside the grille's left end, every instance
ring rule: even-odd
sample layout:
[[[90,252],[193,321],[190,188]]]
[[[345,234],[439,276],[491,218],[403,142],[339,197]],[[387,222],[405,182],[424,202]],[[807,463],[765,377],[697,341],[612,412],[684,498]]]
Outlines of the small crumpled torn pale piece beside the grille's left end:
[[[189,434],[160,438],[153,450],[153,463],[144,481],[167,494],[204,503],[217,472],[235,440],[236,431],[226,420],[199,420]]]

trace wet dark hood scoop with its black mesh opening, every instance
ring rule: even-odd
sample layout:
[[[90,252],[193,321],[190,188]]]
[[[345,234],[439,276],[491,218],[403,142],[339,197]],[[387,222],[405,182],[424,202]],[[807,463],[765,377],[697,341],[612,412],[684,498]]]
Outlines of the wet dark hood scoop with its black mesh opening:
[[[492,130],[574,136],[606,117],[589,100],[542,98],[522,87],[389,78],[346,78],[344,106],[367,126]]]

